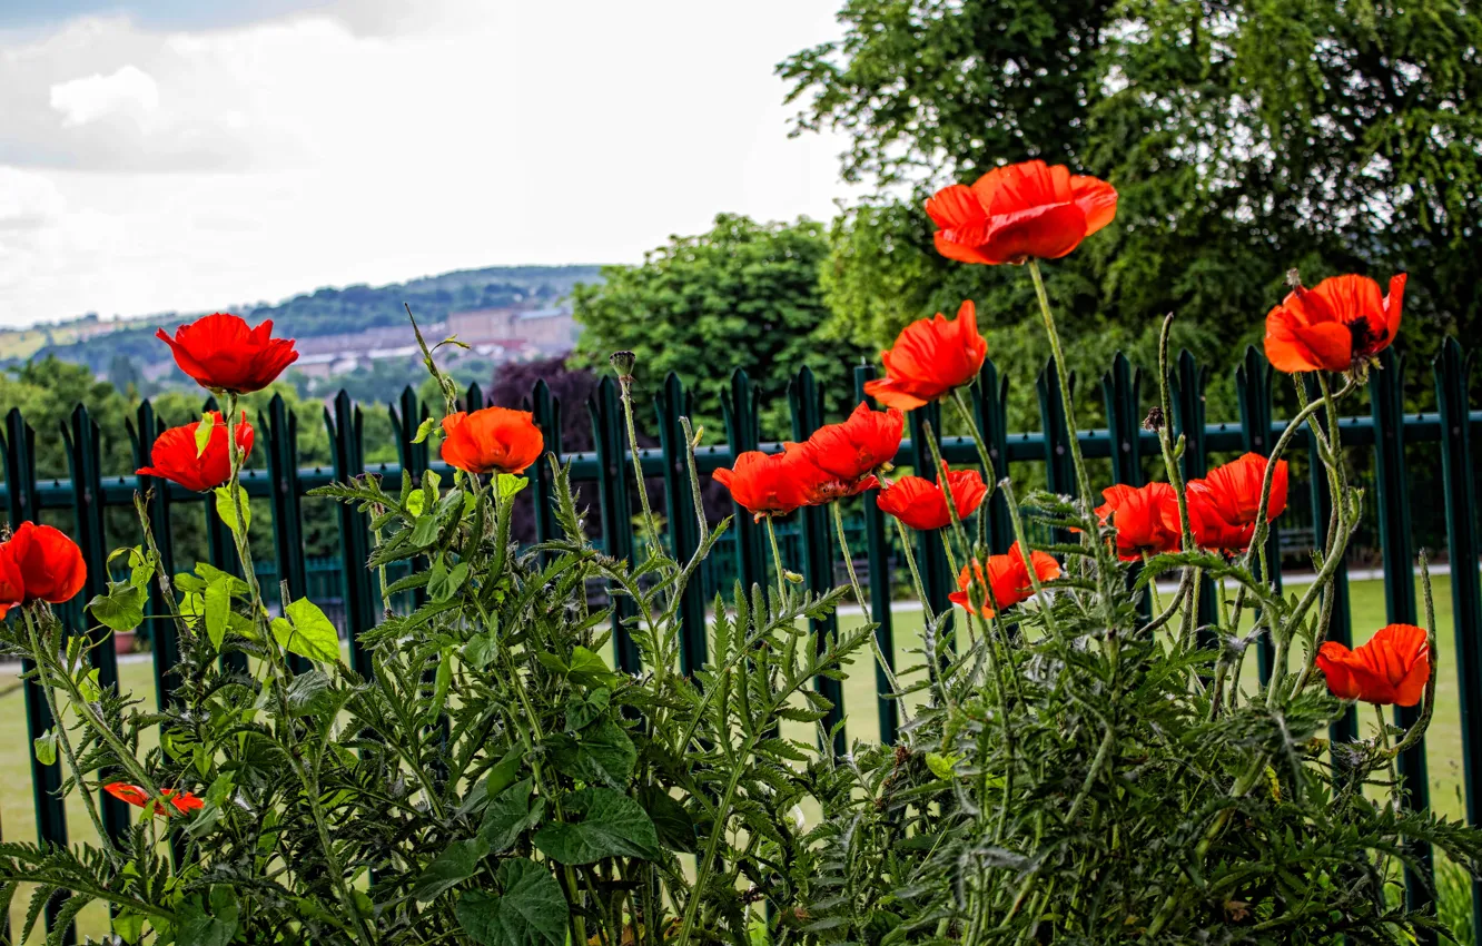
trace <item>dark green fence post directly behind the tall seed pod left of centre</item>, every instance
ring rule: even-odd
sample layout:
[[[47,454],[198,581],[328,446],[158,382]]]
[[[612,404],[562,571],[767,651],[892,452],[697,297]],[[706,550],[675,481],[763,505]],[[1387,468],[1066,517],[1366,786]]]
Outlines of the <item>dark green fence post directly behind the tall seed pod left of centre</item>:
[[[593,445],[597,452],[597,506],[602,512],[602,550],[609,558],[633,565],[633,515],[628,504],[628,457],[624,448],[622,406],[618,403],[618,384],[612,375],[603,375],[597,390],[587,400],[591,414]],[[637,449],[637,445],[633,445]],[[645,485],[637,483],[639,489]],[[642,669],[639,648],[628,633],[628,621],[637,614],[637,602],[619,593],[611,583],[608,596],[612,602],[612,646],[618,667],[628,673]]]

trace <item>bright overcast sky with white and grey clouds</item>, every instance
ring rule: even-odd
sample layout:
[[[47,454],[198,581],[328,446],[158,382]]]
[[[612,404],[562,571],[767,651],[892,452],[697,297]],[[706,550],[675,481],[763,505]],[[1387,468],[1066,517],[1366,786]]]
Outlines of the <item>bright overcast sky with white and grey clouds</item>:
[[[636,262],[827,219],[774,65],[839,0],[4,0],[0,325]]]

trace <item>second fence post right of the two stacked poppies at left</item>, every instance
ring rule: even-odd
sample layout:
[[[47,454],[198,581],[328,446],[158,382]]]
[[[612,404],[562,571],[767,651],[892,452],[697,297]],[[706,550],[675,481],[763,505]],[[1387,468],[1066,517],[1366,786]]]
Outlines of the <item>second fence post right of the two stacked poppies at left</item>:
[[[335,412],[325,408],[325,430],[329,431],[330,463],[335,482],[348,483],[366,472],[363,415],[341,388],[335,394]],[[376,626],[376,589],[366,562],[370,559],[370,534],[365,513],[350,503],[335,503],[339,525],[339,583],[345,601],[345,639],[350,644],[350,666],[370,679],[370,654],[360,645],[360,635]]]

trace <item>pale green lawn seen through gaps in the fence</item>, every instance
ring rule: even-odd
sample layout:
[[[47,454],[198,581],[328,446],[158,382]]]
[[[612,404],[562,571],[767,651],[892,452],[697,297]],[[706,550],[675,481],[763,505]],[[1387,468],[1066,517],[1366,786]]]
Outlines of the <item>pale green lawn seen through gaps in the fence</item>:
[[[1352,583],[1353,629],[1358,642],[1384,626],[1384,586],[1378,581]],[[1436,689],[1436,712],[1426,737],[1426,753],[1430,768],[1432,807],[1445,816],[1461,817],[1464,813],[1461,795],[1461,716],[1457,703],[1457,678],[1452,654],[1455,639],[1451,621],[1449,578],[1435,578],[1436,633],[1441,679]],[[845,624],[858,623],[860,617],[845,615]],[[911,654],[919,646],[922,614],[919,609],[901,606],[894,614],[897,666],[914,666],[919,655]],[[154,703],[154,676],[148,661],[127,661],[119,667],[124,689]],[[1246,687],[1255,684],[1255,661],[1246,661]],[[7,678],[0,692],[0,818],[7,841],[36,839],[36,814],[31,804],[30,752],[31,743],[25,724],[25,703],[15,678]],[[874,672],[868,661],[855,661],[855,672],[845,682],[845,707],[848,710],[849,738],[874,740],[879,735],[874,709]],[[1368,731],[1374,725],[1374,713],[1362,712],[1360,722]],[[68,829],[73,842],[96,839],[83,805],[68,799]],[[25,912],[25,896],[16,897],[12,909],[13,922],[19,924]],[[98,936],[107,931],[107,910],[93,904],[83,912],[79,931]],[[33,937],[40,942],[40,937]]]

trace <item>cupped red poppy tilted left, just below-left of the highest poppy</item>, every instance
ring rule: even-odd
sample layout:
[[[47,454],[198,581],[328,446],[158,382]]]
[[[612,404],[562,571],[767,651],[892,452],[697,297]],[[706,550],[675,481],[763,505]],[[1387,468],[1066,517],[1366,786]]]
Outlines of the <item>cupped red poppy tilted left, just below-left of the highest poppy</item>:
[[[951,322],[937,313],[901,329],[889,351],[880,353],[885,377],[867,381],[864,393],[911,411],[971,383],[987,356],[988,343],[978,334],[978,310],[968,300]]]

